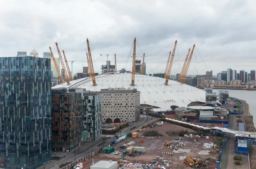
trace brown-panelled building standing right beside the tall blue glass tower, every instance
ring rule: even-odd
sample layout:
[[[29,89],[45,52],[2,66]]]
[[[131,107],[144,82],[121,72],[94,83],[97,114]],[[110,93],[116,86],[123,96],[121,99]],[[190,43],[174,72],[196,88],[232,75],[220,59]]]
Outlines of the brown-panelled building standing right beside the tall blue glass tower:
[[[71,151],[81,143],[83,89],[52,89],[52,150]]]

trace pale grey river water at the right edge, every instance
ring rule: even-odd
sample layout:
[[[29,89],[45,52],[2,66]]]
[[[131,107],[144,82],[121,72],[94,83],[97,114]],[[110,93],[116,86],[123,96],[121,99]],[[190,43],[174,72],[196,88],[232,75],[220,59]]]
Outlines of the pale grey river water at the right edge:
[[[218,93],[219,90],[213,89],[212,92]],[[226,91],[226,90],[225,90]],[[250,114],[253,115],[253,123],[256,125],[256,90],[228,90],[229,96],[237,99],[246,100],[250,107]]]

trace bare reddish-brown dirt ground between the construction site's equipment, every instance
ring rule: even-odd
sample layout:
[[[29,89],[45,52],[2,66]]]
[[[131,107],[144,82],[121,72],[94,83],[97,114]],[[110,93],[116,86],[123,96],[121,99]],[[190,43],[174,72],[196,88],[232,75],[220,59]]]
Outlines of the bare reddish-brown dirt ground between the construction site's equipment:
[[[185,146],[178,147],[177,151],[174,149],[168,149],[167,146],[164,146],[165,141],[172,141],[175,140],[175,138],[178,138],[179,136],[169,136],[166,134],[167,131],[171,132],[179,132],[180,130],[188,130],[189,132],[194,132],[191,129],[187,129],[185,127],[177,126],[175,124],[170,124],[164,122],[162,126],[156,126],[153,128],[146,128],[143,131],[139,132],[139,135],[137,138],[126,138],[122,141],[120,141],[118,144],[115,145],[115,151],[119,151],[119,155],[111,155],[111,154],[98,154],[93,156],[93,159],[95,162],[100,160],[112,160],[112,161],[119,161],[120,158],[122,158],[122,152],[125,149],[120,149],[120,145],[122,143],[128,143],[130,141],[135,141],[136,146],[144,146],[145,147],[145,154],[143,155],[137,155],[136,157],[129,157],[125,156],[124,160],[128,161],[128,163],[148,163],[151,164],[153,159],[156,158],[156,156],[160,156],[160,158],[163,158],[164,160],[168,160],[168,163],[170,164],[169,169],[186,169],[188,168],[188,165],[183,163],[184,159],[189,158],[192,156],[192,158],[197,159],[206,159],[206,158],[213,158],[208,162],[209,165],[207,165],[208,169],[215,169],[218,166],[218,152],[214,149],[210,148],[210,146],[207,146],[206,144],[213,143],[214,137],[210,137],[209,139],[201,138],[199,141],[193,141],[189,140],[187,138],[183,138],[180,142],[183,142]],[[154,136],[154,137],[145,137],[144,132],[146,131],[152,131],[156,130],[160,132],[163,136]],[[139,140],[144,140],[143,143],[140,143]],[[162,152],[173,152],[174,155],[162,155]],[[169,161],[173,161],[171,164]],[[86,169],[90,168],[91,159],[87,161],[87,167]],[[161,164],[161,162],[160,162]]]

